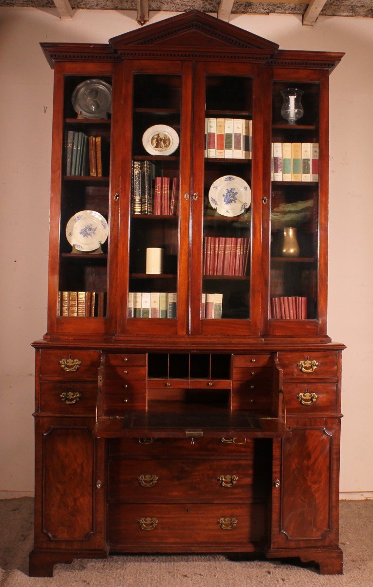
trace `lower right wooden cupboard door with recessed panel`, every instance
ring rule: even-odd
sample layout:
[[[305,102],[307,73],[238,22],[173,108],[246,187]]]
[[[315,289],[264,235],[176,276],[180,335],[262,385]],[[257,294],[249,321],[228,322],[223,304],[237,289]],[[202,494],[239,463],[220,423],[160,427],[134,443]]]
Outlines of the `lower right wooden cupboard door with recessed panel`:
[[[340,421],[299,420],[290,429],[273,459],[272,548],[337,545]]]

